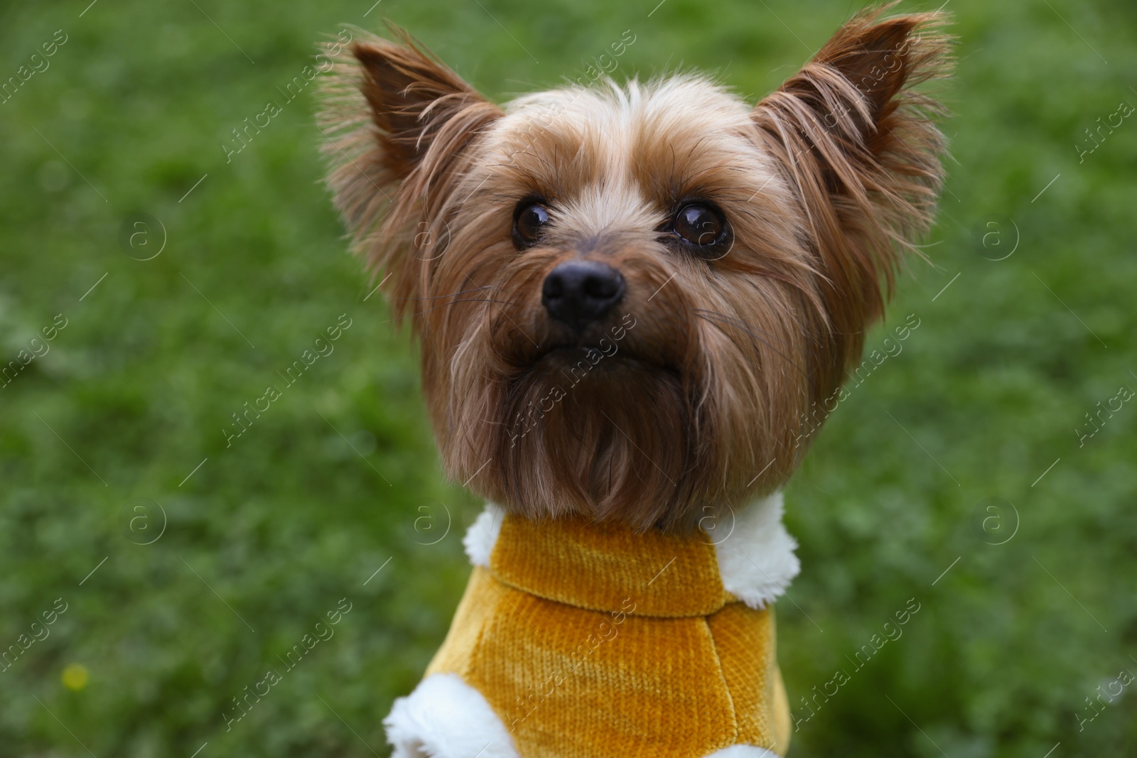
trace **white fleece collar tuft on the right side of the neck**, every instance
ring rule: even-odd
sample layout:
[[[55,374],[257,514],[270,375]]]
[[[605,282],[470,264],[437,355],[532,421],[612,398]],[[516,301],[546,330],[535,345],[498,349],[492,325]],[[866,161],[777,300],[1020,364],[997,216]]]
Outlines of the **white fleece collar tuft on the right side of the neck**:
[[[781,492],[755,500],[735,515],[735,528],[715,544],[719,574],[728,592],[750,608],[762,609],[785,594],[802,570],[797,542],[782,525]]]

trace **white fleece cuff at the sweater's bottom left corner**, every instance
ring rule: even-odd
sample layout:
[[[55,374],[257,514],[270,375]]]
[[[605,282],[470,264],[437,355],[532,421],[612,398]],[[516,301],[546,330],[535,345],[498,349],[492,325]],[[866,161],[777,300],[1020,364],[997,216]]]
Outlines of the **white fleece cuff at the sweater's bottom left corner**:
[[[424,678],[383,726],[391,758],[521,758],[490,703],[457,674]]]

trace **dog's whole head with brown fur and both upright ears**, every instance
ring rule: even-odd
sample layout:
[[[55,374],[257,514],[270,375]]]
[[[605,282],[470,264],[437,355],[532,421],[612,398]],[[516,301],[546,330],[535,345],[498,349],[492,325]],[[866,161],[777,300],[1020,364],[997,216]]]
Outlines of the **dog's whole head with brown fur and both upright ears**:
[[[327,88],[330,183],[422,341],[448,472],[639,527],[789,476],[931,218],[936,15],[849,22],[756,107],[705,78],[488,102],[409,41]]]

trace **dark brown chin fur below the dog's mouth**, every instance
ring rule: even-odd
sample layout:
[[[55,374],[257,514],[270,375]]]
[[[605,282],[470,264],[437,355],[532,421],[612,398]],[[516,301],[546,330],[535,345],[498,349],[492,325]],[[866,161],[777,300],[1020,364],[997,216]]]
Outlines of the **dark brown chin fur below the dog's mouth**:
[[[534,518],[579,513],[640,528],[683,520],[695,423],[679,370],[628,350],[567,345],[506,384],[506,505]]]

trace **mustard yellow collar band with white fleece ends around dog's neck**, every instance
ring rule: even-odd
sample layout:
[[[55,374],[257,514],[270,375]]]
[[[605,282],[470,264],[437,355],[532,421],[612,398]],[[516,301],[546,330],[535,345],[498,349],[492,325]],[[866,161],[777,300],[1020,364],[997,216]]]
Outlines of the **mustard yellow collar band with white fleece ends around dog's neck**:
[[[706,616],[741,600],[763,608],[798,573],[775,493],[687,534],[636,532],[580,517],[529,520],[493,505],[464,539],[475,567],[517,590],[580,608]]]

